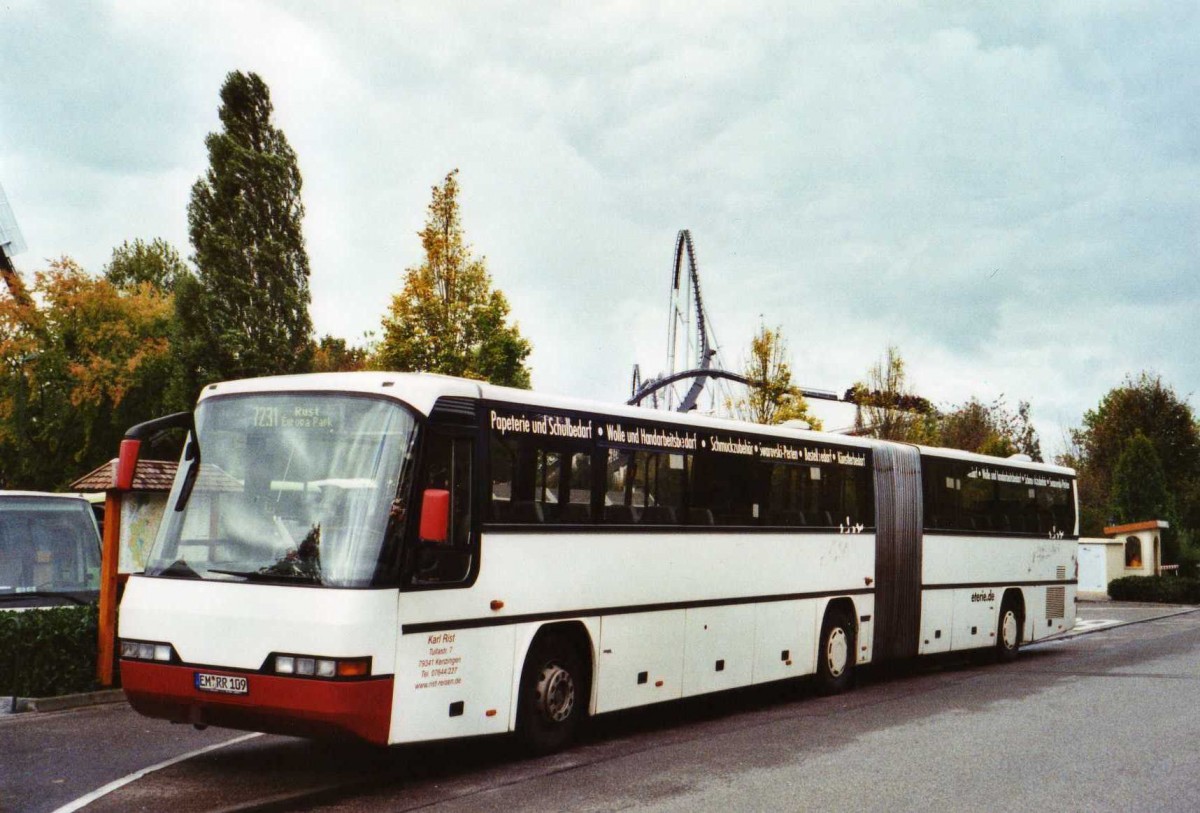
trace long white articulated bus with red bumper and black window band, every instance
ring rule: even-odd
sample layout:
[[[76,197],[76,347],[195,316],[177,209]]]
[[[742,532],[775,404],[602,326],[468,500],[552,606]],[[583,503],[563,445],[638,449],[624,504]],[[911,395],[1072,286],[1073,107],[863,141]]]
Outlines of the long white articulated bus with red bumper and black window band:
[[[1074,472],[427,374],[192,414],[120,614],[142,713],[377,743],[518,731],[1075,618]]]

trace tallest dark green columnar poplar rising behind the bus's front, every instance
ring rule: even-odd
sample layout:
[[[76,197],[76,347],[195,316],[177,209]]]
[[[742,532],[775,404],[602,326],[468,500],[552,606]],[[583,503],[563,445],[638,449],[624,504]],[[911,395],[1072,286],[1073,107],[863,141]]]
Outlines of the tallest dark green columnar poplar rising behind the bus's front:
[[[308,254],[296,156],[271,124],[266,84],[235,71],[221,88],[222,130],[187,207],[194,284],[178,278],[179,396],[208,381],[306,372]]]

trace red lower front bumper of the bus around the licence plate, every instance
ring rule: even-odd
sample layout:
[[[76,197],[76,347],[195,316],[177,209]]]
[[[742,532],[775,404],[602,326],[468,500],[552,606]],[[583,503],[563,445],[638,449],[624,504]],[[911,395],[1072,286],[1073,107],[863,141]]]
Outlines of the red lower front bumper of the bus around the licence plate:
[[[247,694],[196,688],[196,673],[246,678]],[[332,681],[121,660],[125,695],[139,713],[178,723],[388,745],[392,678]]]

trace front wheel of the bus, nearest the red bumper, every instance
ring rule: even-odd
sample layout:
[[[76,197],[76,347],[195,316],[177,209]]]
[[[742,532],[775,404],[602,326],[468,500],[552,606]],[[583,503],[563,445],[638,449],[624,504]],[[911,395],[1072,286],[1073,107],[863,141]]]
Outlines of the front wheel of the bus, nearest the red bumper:
[[[526,655],[517,735],[534,754],[564,748],[587,713],[587,678],[578,648],[557,632],[538,636]]]

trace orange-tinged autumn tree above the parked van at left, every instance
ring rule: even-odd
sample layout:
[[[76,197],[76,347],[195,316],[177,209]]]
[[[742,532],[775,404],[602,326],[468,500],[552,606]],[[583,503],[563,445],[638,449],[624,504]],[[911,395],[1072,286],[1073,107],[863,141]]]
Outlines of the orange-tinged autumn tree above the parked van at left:
[[[164,411],[172,297],[122,290],[68,258],[31,291],[0,299],[0,488],[52,490]]]

